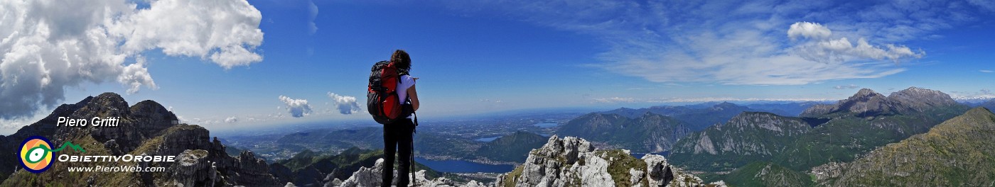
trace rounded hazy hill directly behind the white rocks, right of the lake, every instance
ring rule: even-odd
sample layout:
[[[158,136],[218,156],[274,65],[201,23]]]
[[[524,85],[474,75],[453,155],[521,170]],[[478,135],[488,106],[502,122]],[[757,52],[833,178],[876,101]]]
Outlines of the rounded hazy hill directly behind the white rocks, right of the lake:
[[[556,135],[606,142],[639,152],[670,150],[690,130],[684,123],[663,115],[644,113],[639,118],[591,113],[570,120]]]

